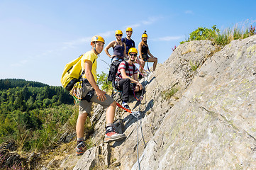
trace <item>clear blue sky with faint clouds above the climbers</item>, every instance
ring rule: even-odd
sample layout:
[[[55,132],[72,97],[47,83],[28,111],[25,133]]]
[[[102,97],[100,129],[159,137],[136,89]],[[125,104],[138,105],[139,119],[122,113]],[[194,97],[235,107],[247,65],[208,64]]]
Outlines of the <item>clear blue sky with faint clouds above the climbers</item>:
[[[67,62],[91,50],[93,35],[115,40],[133,28],[138,47],[144,30],[159,63],[196,28],[255,26],[256,1],[0,1],[0,79],[16,78],[61,86]],[[113,50],[108,50],[113,54]],[[97,73],[111,60],[101,52]],[[152,64],[150,64],[152,66]]]

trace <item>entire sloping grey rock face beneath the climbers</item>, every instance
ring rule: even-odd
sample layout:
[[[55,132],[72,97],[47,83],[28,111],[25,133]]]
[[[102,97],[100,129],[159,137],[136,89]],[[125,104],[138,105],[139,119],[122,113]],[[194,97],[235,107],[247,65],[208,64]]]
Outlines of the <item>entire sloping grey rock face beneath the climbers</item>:
[[[93,159],[96,167],[138,169],[139,157],[140,169],[256,169],[256,35],[222,50],[208,40],[185,42],[143,84],[141,104],[130,103],[140,117],[117,108],[127,138],[96,153],[105,160]],[[105,115],[94,111],[96,151],[106,145]]]

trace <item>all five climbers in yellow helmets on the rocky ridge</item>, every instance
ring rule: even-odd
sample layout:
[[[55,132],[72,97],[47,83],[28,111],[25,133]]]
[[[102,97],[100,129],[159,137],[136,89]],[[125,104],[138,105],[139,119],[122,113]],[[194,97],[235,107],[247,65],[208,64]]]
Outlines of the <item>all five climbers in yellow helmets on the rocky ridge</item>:
[[[108,96],[106,92],[101,91],[96,84],[96,67],[98,55],[105,50],[106,55],[111,58],[111,62],[120,62],[118,65],[116,77],[113,81],[113,87],[118,91],[122,91],[123,107],[130,109],[128,106],[128,98],[130,91],[142,91],[143,86],[138,81],[138,69],[134,63],[140,65],[140,73],[143,72],[145,62],[154,62],[153,70],[157,64],[157,58],[154,57],[148,48],[148,35],[143,33],[142,41],[135,48],[135,42],[131,39],[133,33],[132,28],[126,29],[126,38],[122,38],[121,30],[116,30],[116,40],[110,42],[104,49],[105,40],[99,35],[91,38],[91,51],[86,52],[81,60],[81,67],[84,70],[82,76],[82,97],[87,98],[79,102],[79,115],[77,118],[77,155],[84,154],[87,145],[84,142],[84,123],[87,116],[90,116],[92,102],[99,103],[106,109],[106,133],[104,142],[123,140],[126,135],[119,134],[113,125],[114,115],[116,111],[116,101]],[[113,55],[110,55],[108,49],[113,47]],[[140,56],[138,56],[138,54]],[[149,56],[150,57],[149,57]],[[89,94],[90,91],[90,94]],[[92,92],[91,92],[92,91]],[[89,95],[88,95],[89,94]],[[88,98],[89,96],[89,98]]]

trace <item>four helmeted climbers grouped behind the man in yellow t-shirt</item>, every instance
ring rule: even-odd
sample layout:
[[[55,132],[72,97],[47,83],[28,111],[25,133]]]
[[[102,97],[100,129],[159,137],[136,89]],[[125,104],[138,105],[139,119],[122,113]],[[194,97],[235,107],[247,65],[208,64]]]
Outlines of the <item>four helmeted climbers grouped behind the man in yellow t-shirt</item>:
[[[135,48],[135,42],[131,39],[131,35],[133,34],[132,28],[126,28],[126,38],[122,38],[123,32],[121,30],[116,30],[116,40],[111,41],[106,47],[105,52],[108,57],[111,58],[112,67],[118,67],[116,77],[113,80],[113,87],[117,90],[122,91],[122,106],[124,108],[129,108],[128,106],[128,97],[130,91],[141,91],[142,87],[138,89],[138,78],[141,79],[143,77],[142,74],[138,74],[138,69],[132,69],[133,63],[138,63],[140,65],[140,73],[143,73],[143,68],[145,66],[145,62],[154,62],[153,71],[155,71],[155,67],[157,65],[157,58],[154,57],[149,50],[147,40],[148,35],[146,32],[142,35],[142,40],[138,45],[139,48],[139,56],[138,50]],[[113,55],[110,55],[108,50],[113,47]],[[130,53],[133,53],[135,57],[130,57]],[[130,63],[129,67],[126,69],[124,67],[126,64],[123,62],[124,60],[128,60]],[[121,64],[122,62],[122,64]],[[138,77],[139,75],[139,77]]]

